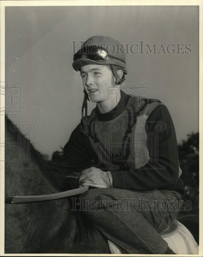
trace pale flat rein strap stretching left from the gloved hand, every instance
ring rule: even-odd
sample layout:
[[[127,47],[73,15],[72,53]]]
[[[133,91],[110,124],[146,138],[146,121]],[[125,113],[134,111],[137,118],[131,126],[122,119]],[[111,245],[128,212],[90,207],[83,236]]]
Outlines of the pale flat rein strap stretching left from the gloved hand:
[[[50,195],[33,195],[33,196],[5,196],[5,203],[26,203],[26,202],[35,202],[35,201],[45,201],[45,200],[53,200],[53,199],[59,199],[64,198],[72,195],[79,195],[87,191],[89,186],[84,186],[64,192],[59,192],[56,194],[50,194]]]

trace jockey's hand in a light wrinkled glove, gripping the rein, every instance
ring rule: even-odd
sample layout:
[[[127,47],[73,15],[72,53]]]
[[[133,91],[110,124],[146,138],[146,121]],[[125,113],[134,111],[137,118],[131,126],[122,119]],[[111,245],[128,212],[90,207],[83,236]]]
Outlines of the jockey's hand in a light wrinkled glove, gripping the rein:
[[[102,171],[97,168],[88,168],[83,170],[79,176],[79,187],[86,185],[92,187],[113,187],[113,179],[110,171]]]

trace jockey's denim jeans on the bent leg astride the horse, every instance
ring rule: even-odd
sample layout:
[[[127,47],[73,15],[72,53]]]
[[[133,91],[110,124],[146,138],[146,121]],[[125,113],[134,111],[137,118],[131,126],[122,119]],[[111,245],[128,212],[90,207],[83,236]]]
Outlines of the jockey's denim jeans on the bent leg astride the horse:
[[[159,232],[170,227],[182,204],[176,191],[94,188],[80,195],[77,208],[126,254],[164,254]]]

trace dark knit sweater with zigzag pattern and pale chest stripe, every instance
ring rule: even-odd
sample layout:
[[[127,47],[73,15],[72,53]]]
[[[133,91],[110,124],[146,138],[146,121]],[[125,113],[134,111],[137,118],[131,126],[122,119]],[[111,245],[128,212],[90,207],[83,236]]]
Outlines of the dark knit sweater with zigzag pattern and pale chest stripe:
[[[167,189],[183,195],[175,128],[159,100],[122,92],[112,111],[101,114],[93,109],[87,119],[88,137],[81,126],[64,147],[68,165],[94,160],[95,167],[111,171],[113,188]]]

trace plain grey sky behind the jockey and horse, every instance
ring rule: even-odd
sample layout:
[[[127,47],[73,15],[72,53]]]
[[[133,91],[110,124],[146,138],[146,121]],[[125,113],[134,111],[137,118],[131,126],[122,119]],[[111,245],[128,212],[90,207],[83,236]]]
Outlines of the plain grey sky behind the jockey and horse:
[[[197,6],[6,7],[5,20],[5,78],[21,89],[21,111],[12,120],[38,124],[31,142],[42,153],[60,150],[81,120],[83,86],[71,41],[93,35],[165,49],[191,44],[190,54],[127,54],[126,80],[144,84],[167,106],[178,143],[198,131]]]

